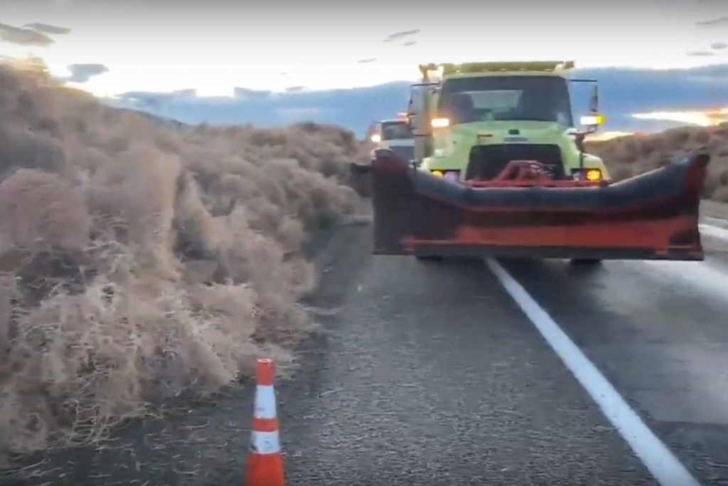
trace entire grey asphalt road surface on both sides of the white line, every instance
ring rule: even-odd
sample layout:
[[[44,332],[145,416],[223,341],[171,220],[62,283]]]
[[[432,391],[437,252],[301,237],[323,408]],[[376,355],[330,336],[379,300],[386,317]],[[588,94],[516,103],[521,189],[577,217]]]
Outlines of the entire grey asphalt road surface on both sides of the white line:
[[[657,485],[480,261],[319,257],[325,332],[277,382],[288,485]],[[502,262],[702,485],[728,485],[728,264]],[[7,485],[240,485],[250,388]]]

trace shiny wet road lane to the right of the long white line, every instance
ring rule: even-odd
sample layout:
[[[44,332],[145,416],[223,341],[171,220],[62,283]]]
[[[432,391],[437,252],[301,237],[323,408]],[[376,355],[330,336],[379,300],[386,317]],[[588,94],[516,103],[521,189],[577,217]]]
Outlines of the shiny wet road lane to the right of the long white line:
[[[702,484],[728,484],[723,262],[507,268]]]

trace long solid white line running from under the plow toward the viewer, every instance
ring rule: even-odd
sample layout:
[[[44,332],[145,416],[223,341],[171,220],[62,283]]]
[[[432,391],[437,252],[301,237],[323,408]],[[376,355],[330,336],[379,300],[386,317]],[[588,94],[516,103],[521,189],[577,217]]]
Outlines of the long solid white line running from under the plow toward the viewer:
[[[496,260],[486,259],[488,268],[505,287],[523,313],[579,380],[606,418],[620,431],[632,450],[662,486],[700,486],[682,463],[657,439],[620,393],[564,333],[553,318],[515,281]]]

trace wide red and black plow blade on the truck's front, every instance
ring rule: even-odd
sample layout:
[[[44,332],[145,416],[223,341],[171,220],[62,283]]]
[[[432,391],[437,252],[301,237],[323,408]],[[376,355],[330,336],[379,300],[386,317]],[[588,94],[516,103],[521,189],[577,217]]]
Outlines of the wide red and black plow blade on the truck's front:
[[[377,150],[374,254],[702,260],[695,152],[614,184],[470,187]]]

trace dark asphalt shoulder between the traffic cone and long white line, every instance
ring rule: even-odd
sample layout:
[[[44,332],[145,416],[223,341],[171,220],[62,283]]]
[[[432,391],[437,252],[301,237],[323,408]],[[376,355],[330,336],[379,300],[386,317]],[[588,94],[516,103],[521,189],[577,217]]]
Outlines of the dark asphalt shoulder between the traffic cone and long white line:
[[[294,484],[654,484],[483,262],[363,258]]]

